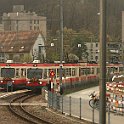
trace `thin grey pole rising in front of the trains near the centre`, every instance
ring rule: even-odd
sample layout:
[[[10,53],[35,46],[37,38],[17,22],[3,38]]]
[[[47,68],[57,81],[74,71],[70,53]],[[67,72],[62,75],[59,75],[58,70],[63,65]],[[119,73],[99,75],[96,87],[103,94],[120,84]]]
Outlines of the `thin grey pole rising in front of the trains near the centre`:
[[[63,61],[63,0],[60,0],[60,86],[62,86],[62,61]]]

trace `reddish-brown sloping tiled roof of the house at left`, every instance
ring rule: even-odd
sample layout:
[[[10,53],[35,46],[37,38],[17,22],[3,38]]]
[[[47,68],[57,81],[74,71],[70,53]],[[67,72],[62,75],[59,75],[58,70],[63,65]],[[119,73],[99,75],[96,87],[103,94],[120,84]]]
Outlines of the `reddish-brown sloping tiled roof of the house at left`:
[[[0,33],[0,52],[30,52],[39,34],[36,31]]]

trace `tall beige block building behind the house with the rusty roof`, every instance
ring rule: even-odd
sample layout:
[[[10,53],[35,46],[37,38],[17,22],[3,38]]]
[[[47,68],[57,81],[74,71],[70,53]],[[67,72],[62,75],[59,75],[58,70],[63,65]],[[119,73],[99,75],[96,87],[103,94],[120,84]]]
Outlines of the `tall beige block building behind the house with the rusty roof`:
[[[14,5],[13,12],[3,13],[4,31],[42,31],[46,38],[46,17],[26,12],[24,5]]]

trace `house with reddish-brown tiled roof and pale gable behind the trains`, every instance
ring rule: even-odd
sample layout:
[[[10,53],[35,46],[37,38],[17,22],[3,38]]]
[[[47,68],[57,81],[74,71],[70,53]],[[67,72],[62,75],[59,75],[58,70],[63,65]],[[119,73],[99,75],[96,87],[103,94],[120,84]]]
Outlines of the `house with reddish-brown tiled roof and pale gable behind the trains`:
[[[0,33],[0,62],[31,62],[46,59],[45,39],[42,32],[23,31]]]

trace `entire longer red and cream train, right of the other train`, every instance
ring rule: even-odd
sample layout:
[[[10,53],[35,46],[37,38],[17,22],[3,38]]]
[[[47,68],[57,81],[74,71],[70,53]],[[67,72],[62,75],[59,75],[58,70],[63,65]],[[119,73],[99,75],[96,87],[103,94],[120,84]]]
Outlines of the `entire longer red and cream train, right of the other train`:
[[[121,73],[123,66],[121,64],[108,64],[106,68],[107,80],[111,80],[114,73]],[[62,86],[64,89],[94,86],[99,82],[99,65],[88,63],[63,64],[62,67]],[[50,70],[55,75],[51,83]],[[60,86],[59,76],[60,64],[31,64],[27,69],[28,89],[41,89],[51,83],[51,88],[57,90]]]

